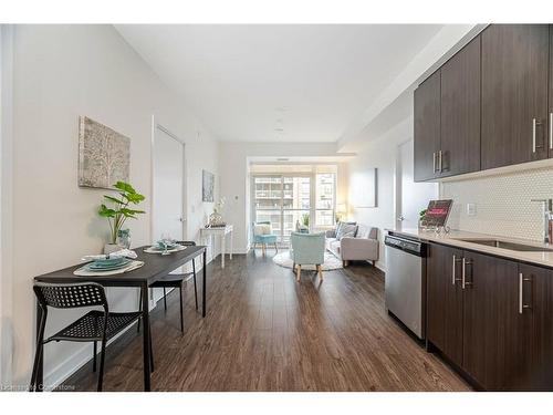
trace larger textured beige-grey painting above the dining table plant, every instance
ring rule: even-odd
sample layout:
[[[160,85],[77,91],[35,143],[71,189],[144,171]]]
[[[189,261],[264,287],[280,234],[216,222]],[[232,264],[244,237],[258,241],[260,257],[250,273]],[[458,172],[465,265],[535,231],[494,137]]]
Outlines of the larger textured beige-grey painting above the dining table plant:
[[[79,186],[109,189],[128,183],[131,138],[86,116],[79,122]]]

